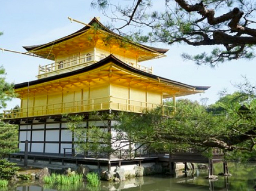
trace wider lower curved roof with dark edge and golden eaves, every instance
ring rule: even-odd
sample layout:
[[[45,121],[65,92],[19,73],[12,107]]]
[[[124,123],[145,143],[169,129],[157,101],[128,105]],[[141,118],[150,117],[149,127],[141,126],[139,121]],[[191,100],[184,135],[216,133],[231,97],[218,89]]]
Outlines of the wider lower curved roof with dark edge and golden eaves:
[[[147,87],[148,91],[161,92],[163,98],[201,93],[210,88],[209,86],[188,85],[150,74],[129,66],[114,55],[109,55],[98,63],[82,69],[15,84],[15,91],[22,97],[22,95],[27,95],[28,87],[29,92],[36,95],[46,91],[57,92],[59,87],[72,87],[72,85],[78,87],[86,83],[93,85],[102,82],[135,88]]]

